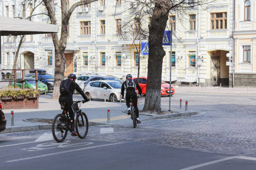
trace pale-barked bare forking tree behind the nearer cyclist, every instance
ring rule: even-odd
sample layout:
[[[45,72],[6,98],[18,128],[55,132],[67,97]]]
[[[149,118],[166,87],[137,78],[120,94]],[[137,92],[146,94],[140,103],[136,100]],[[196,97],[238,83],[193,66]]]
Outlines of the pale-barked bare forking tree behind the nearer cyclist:
[[[66,58],[64,56],[64,51],[67,47],[67,25],[69,23],[69,19],[74,11],[74,9],[81,5],[86,5],[91,2],[97,0],[83,0],[74,3],[69,9],[67,9],[67,2],[66,0],[61,0],[61,33],[60,38],[58,37],[57,33],[52,33],[52,40],[54,43],[55,48],[55,72],[54,72],[54,92],[53,98],[59,98],[59,85],[61,80],[64,78],[64,71],[65,71],[65,63]],[[56,25],[56,13],[53,9],[52,3],[50,0],[43,0],[44,5],[46,6],[47,13],[51,20],[51,24]]]

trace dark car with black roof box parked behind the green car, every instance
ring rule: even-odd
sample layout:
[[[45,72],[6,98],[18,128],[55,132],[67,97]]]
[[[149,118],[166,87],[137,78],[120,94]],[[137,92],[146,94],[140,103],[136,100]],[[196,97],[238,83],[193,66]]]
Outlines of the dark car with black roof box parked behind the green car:
[[[26,74],[25,77],[36,77],[36,71],[35,70],[29,70],[29,74]],[[51,74],[46,73],[45,70],[38,70],[38,80],[43,82],[44,84],[47,85],[48,90],[53,90],[54,89],[54,76]]]

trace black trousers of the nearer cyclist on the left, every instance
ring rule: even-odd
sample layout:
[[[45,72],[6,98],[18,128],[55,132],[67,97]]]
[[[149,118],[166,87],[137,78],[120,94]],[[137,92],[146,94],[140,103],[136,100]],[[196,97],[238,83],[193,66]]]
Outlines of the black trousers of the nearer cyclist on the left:
[[[74,130],[74,107],[73,107],[73,97],[71,95],[61,95],[59,96],[59,103],[66,103],[66,112],[69,112],[70,124],[72,130]]]

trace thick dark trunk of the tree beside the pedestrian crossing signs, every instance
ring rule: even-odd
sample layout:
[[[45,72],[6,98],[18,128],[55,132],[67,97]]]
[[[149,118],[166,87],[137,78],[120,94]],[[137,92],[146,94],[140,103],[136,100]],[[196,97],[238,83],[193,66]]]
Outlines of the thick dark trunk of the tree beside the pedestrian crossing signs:
[[[170,1],[158,0],[149,25],[148,82],[143,111],[161,113],[161,77],[165,55],[162,46],[168,20]]]

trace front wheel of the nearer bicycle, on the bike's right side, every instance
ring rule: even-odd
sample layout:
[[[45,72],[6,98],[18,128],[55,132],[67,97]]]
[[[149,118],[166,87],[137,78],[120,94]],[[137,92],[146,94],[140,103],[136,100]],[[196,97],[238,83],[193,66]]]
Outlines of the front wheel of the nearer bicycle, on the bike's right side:
[[[85,138],[88,133],[88,118],[84,112],[76,117],[75,127],[79,138]]]

